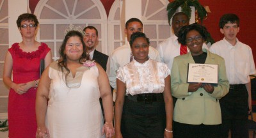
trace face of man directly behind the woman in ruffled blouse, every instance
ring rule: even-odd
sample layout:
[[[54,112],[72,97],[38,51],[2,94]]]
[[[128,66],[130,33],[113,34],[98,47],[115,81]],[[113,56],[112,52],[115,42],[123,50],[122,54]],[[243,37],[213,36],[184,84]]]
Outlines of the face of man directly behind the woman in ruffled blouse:
[[[124,33],[127,35],[127,40],[130,42],[131,35],[134,32],[143,32],[143,26],[140,22],[130,22],[127,28],[124,29]]]

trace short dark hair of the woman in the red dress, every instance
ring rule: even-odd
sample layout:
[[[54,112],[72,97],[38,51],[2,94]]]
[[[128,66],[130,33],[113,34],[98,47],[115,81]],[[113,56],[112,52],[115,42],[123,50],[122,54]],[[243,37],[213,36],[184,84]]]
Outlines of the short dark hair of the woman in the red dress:
[[[23,20],[29,20],[35,22],[35,25],[38,26],[39,22],[36,19],[36,15],[32,13],[23,13],[22,15],[19,15],[18,19],[16,20],[16,24],[18,27],[21,27],[21,22]]]

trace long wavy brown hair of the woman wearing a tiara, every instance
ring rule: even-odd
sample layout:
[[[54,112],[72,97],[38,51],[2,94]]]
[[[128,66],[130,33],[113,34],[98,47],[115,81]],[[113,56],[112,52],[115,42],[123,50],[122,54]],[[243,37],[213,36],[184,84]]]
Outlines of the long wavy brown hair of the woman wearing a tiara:
[[[81,34],[79,31],[69,31],[66,34],[66,36],[65,36],[65,38],[64,38],[64,40],[61,44],[61,47],[60,47],[60,50],[59,50],[60,59],[58,60],[58,66],[59,66],[61,72],[63,72],[63,68],[65,68],[65,70],[67,70],[67,73],[65,74],[65,78],[67,78],[68,73],[70,73],[70,70],[67,68],[67,56],[65,54],[65,48],[66,48],[66,44],[67,44],[68,39],[71,38],[72,36],[78,36],[79,39],[81,40],[82,44],[83,44],[83,54],[79,59],[79,63],[82,64],[84,59],[89,60],[89,55],[86,54],[86,50],[85,50],[86,47],[85,47],[85,44],[84,44],[84,41],[83,41],[83,34]]]

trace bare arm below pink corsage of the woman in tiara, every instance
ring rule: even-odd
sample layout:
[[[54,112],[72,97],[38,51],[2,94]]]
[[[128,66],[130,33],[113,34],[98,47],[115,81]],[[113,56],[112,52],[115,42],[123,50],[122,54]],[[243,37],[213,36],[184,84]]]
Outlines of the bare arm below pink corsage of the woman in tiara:
[[[106,137],[112,137],[115,134],[115,130],[113,127],[113,100],[111,89],[109,86],[108,75],[105,70],[97,64],[97,68],[99,70],[98,84],[100,89],[100,97],[102,98],[102,104],[104,108],[104,114],[106,118],[106,122],[102,132],[106,133]]]

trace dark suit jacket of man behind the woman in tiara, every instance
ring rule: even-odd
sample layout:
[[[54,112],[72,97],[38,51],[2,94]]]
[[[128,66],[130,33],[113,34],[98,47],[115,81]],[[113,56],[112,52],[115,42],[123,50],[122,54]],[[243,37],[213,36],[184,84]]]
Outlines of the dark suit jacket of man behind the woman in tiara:
[[[107,63],[108,63],[108,55],[103,54],[102,52],[99,52],[95,49],[93,57],[93,60],[95,60],[97,63],[99,63],[100,66],[105,70],[107,70]]]

